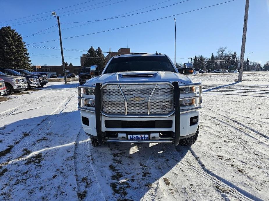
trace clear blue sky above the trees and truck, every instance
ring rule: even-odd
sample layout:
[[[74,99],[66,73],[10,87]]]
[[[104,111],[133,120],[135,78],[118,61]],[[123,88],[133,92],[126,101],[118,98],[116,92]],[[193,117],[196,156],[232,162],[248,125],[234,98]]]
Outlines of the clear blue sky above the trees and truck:
[[[83,3],[87,0],[71,1],[71,0],[59,0],[59,1],[1,1],[0,6],[2,11],[0,14],[0,27],[3,25],[10,25],[13,29],[16,29],[22,36],[28,36],[44,29],[47,29],[53,25],[56,25],[56,19],[51,17],[52,10],[59,8],[72,6],[74,4]],[[101,3],[107,1],[106,3]],[[122,2],[120,2],[122,1]],[[136,24],[152,19],[158,19],[161,17],[170,16],[173,14],[179,14],[182,12],[202,8],[205,6],[211,6],[213,4],[222,3],[228,0],[190,0],[184,3],[179,3],[168,8],[158,9],[155,11],[147,12],[144,14],[137,14],[129,17],[111,19],[106,21],[99,21],[95,23],[75,23],[64,24],[68,22],[77,21],[91,21],[97,19],[106,19],[115,17],[127,12],[138,10],[147,6],[151,6],[160,3],[156,6],[151,6],[143,10],[136,12],[143,12],[168,6],[184,0],[93,0],[88,3],[65,8],[62,10],[56,10],[60,16],[62,38],[89,34],[131,24]],[[116,3],[119,2],[119,3]],[[164,3],[161,3],[164,2]],[[91,6],[93,4],[97,4]],[[105,6],[111,3],[113,5]],[[82,7],[88,6],[83,9]],[[102,8],[96,8],[104,6]],[[251,61],[261,62],[263,65],[269,60],[269,0],[250,0],[250,9],[247,26],[247,40],[245,59],[249,52],[253,52],[249,55]],[[96,8],[88,10],[91,8]],[[72,12],[66,12],[70,10],[78,9]],[[79,12],[82,10],[88,10]],[[177,62],[188,62],[188,58],[195,55],[202,54],[203,56],[210,57],[212,53],[216,54],[218,47],[226,46],[228,50],[236,51],[240,56],[242,31],[245,11],[245,0],[236,0],[230,3],[225,3],[219,6],[202,9],[195,12],[181,14],[176,16],[177,23]],[[39,14],[47,12],[44,14]],[[79,12],[76,14],[70,14]],[[131,13],[136,13],[131,12]],[[130,14],[131,14],[130,13]],[[8,21],[17,19],[29,15],[39,14],[32,17],[18,19],[14,21]],[[63,16],[65,14],[70,14]],[[44,17],[44,18],[40,18]],[[33,21],[42,20],[33,23],[27,23],[23,25],[16,25],[26,22],[25,20],[31,20],[34,18],[40,18]],[[6,22],[4,22],[6,21]],[[76,28],[70,28],[73,26],[82,25]],[[66,29],[70,28],[70,29]],[[66,30],[65,30],[66,29]],[[52,32],[54,31],[54,32]],[[46,32],[51,32],[43,34]],[[42,33],[42,34],[41,34]],[[50,41],[59,39],[58,26],[54,26],[46,31],[40,32],[34,36],[24,38],[26,44],[37,43],[42,41]],[[153,21],[141,25],[136,25],[128,28],[122,28],[104,33],[92,34],[88,36],[77,37],[73,39],[63,40],[63,48],[88,50],[90,46],[95,48],[101,47],[104,52],[111,51],[116,52],[121,47],[131,48],[131,52],[150,52],[156,51],[163,54],[168,54],[171,58],[174,58],[174,17]],[[47,43],[40,43],[36,45],[46,47],[60,47],[59,41],[52,41]],[[36,46],[33,45],[33,46]],[[34,65],[60,65],[61,57],[60,50],[28,47],[32,63]],[[67,51],[64,50],[65,61],[73,63],[73,65],[80,65],[79,57],[81,54],[86,53],[82,51]],[[105,55],[107,53],[104,53]],[[173,59],[172,59],[173,60]]]

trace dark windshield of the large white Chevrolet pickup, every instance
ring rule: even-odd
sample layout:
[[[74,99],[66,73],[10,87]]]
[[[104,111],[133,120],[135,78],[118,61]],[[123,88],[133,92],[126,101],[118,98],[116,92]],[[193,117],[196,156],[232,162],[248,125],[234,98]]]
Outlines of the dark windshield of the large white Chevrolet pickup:
[[[104,74],[126,71],[176,72],[166,56],[128,56],[112,59]]]

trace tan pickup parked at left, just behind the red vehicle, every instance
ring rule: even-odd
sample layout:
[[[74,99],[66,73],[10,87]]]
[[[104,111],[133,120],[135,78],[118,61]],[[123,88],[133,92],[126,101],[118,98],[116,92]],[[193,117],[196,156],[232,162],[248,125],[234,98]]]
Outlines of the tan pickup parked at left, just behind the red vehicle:
[[[0,78],[2,78],[5,82],[5,95],[10,95],[12,92],[22,92],[28,88],[27,80],[25,77],[7,75],[0,71]]]

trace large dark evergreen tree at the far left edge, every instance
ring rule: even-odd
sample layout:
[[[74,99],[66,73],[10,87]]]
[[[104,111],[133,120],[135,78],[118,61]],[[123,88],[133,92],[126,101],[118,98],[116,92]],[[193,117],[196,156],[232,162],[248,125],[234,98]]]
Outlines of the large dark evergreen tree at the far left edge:
[[[25,42],[10,26],[0,29],[0,66],[31,70],[31,60]]]

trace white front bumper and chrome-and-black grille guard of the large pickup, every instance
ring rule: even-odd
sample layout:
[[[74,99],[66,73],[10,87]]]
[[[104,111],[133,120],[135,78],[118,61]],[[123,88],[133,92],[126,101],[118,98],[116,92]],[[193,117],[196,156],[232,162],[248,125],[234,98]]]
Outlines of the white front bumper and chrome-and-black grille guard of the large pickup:
[[[110,83],[115,84],[115,83]],[[101,84],[97,83],[95,86],[79,85],[78,91],[78,109],[81,110],[81,123],[86,134],[90,136],[96,136],[100,145],[104,145],[105,142],[130,142],[127,140],[129,134],[145,134],[149,135],[149,140],[139,140],[139,142],[172,142],[175,146],[179,144],[179,140],[186,136],[191,136],[197,131],[199,124],[199,109],[202,108],[202,84],[183,84],[179,85],[178,82],[171,83],[174,88],[174,97],[180,97],[179,88],[182,87],[199,87],[199,94],[195,96],[174,98],[174,111],[169,115],[106,115],[100,110],[101,108]],[[95,99],[81,97],[81,88],[94,88]],[[180,108],[180,100],[196,98],[196,105],[187,109]],[[89,107],[81,107],[81,100],[95,100],[95,109]],[[126,104],[127,107],[127,104]],[[186,108],[186,107],[184,107]],[[191,125],[190,119],[197,118],[197,123]],[[86,123],[85,119],[86,118]],[[88,120],[87,120],[88,119]],[[171,120],[172,126],[165,128],[135,128],[135,127],[124,127],[124,128],[111,128],[106,126],[106,120],[118,120],[118,121],[137,121],[142,124],[142,121],[156,121],[156,120]],[[143,122],[144,123],[144,122]],[[113,136],[107,135],[113,132]],[[163,135],[165,133],[165,135]],[[116,135],[115,135],[116,134]],[[167,135],[168,134],[168,135]],[[112,141],[111,141],[112,140]],[[114,140],[114,141],[113,141]],[[135,141],[137,142],[137,141]]]

